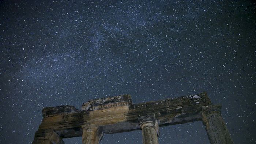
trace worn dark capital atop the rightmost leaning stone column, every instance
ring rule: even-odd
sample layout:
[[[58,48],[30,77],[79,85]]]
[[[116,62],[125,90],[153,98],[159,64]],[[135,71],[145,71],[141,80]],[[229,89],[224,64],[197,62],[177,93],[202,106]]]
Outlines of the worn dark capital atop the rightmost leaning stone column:
[[[221,115],[221,104],[202,106],[202,122],[208,123],[208,119],[213,115]]]

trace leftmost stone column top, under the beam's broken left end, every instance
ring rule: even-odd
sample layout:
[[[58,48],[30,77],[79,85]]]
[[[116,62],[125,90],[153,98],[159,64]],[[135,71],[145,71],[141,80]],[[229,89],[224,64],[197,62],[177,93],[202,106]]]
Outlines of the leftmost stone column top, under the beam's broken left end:
[[[53,130],[40,133],[40,137],[35,137],[32,144],[64,144],[64,141]]]

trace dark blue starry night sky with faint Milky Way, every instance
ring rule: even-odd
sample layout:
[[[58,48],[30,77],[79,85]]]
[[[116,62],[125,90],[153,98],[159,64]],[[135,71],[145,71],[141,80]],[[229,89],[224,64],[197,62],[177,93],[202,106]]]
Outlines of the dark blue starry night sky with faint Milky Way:
[[[206,91],[234,143],[255,144],[255,38],[249,0],[1,0],[0,143],[31,143],[44,107]],[[201,121],[160,133],[160,144],[209,144]],[[141,131],[105,134],[101,144],[142,144]]]

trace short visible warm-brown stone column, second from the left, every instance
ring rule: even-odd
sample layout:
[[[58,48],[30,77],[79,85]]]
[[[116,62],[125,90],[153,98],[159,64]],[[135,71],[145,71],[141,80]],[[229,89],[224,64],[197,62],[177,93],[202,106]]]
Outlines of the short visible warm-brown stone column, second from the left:
[[[97,125],[83,125],[83,144],[99,144],[103,137],[102,130]]]

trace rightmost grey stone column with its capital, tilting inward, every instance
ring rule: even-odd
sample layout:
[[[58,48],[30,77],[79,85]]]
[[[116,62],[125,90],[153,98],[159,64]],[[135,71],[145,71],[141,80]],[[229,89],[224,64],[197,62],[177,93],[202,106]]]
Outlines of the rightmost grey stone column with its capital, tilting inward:
[[[233,144],[221,116],[221,105],[202,106],[202,121],[211,144]]]

